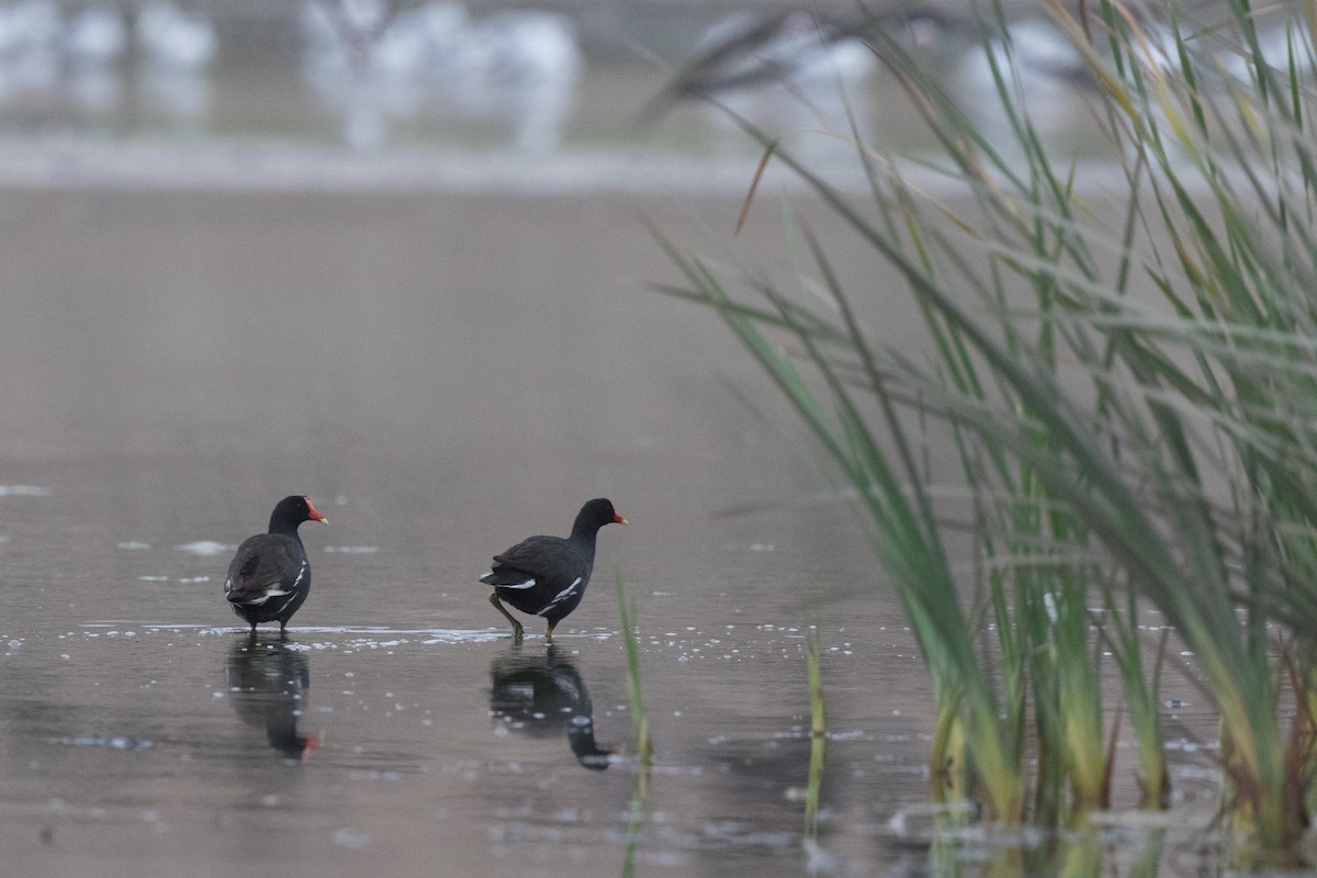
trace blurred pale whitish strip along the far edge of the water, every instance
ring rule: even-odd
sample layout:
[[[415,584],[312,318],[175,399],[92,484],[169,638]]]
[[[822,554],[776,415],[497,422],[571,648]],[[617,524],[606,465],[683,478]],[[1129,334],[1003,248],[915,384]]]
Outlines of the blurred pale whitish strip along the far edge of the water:
[[[831,171],[848,186],[864,178]],[[649,150],[570,150],[553,154],[503,150],[391,147],[361,153],[329,145],[233,137],[186,143],[134,137],[108,141],[76,134],[0,136],[0,186],[233,192],[710,192],[741,195],[745,162]],[[765,186],[802,188],[770,165]],[[335,499],[337,503],[337,498]]]

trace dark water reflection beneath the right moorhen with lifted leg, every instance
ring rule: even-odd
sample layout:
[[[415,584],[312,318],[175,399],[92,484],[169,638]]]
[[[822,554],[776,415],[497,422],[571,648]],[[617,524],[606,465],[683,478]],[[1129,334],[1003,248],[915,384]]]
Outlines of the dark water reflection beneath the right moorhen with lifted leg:
[[[490,665],[490,712],[531,737],[568,736],[577,762],[593,770],[608,767],[616,752],[594,740],[590,691],[576,663],[556,646],[543,654],[523,654],[520,644]]]

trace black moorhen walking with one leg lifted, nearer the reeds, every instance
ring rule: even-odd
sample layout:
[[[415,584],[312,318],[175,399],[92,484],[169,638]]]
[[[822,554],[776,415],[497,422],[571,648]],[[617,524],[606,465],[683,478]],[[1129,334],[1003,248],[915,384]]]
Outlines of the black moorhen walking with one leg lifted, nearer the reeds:
[[[603,498],[590,500],[572,525],[572,536],[531,537],[503,554],[494,555],[493,569],[481,582],[494,586],[490,603],[512,623],[512,636],[524,633],[500,598],[524,613],[544,616],[549,623],[545,640],[553,642],[553,627],[577,608],[590,584],[594,569],[594,538],[606,524],[626,524]]]

